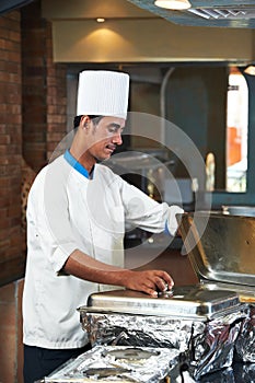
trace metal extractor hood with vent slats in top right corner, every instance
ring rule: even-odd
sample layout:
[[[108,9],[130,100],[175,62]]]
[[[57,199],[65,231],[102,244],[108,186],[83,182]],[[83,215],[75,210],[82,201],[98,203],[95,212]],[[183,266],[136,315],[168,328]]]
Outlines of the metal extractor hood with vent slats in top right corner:
[[[159,8],[154,0],[128,1],[175,24],[255,28],[255,0],[190,0],[192,8],[179,11]]]

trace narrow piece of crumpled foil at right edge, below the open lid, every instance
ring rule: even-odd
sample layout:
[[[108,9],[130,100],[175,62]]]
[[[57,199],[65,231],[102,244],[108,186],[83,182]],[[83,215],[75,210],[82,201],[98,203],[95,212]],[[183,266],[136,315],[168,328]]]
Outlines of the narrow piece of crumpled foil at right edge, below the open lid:
[[[255,363],[255,305],[252,304],[235,341],[235,360]]]

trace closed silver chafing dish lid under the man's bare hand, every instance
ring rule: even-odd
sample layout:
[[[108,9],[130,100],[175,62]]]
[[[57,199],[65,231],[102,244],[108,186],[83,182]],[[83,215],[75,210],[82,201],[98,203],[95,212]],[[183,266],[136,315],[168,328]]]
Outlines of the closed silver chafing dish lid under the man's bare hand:
[[[207,321],[240,306],[234,292],[210,290],[204,286],[176,287],[158,298],[132,290],[93,293],[80,312],[157,315]]]

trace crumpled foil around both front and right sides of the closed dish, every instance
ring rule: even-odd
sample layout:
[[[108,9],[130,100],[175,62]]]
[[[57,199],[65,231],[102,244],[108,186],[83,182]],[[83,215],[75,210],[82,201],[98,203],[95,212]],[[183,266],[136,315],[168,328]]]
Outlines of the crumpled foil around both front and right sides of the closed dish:
[[[195,380],[231,367],[234,343],[246,305],[208,322],[114,313],[81,312],[82,328],[92,345],[148,346],[177,349]]]

